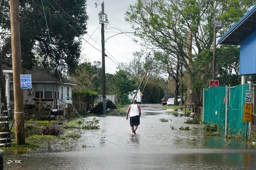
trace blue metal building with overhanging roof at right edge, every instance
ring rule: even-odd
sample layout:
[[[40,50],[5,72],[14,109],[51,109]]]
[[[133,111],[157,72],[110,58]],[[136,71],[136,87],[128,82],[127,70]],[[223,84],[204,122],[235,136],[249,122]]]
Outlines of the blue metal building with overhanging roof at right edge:
[[[256,6],[227,31],[218,44],[240,45],[241,84],[245,84],[246,74],[256,74]]]

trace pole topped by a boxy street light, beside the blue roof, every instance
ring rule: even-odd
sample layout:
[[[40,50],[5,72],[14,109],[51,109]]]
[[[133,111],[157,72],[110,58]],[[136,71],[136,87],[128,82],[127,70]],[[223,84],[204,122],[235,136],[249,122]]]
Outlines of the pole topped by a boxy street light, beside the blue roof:
[[[212,79],[215,80],[216,74],[216,34],[218,30],[222,28],[222,22],[216,21],[214,22],[214,29],[213,29],[213,77]]]

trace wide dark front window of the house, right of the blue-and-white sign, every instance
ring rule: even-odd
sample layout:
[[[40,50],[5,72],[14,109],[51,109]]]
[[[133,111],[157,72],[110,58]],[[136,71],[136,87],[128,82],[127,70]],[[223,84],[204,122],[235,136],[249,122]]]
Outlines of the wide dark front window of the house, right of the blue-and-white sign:
[[[39,98],[39,94],[41,93],[41,98],[53,98],[53,84],[35,84],[35,98]]]

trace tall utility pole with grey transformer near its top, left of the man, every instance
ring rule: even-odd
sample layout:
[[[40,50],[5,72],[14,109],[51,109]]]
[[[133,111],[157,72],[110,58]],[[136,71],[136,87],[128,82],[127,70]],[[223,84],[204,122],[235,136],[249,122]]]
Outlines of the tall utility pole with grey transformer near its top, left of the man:
[[[101,3],[101,13],[99,14],[99,24],[101,24],[101,54],[102,54],[102,104],[103,114],[107,112],[106,109],[106,80],[105,80],[105,14],[104,14],[104,1]]]

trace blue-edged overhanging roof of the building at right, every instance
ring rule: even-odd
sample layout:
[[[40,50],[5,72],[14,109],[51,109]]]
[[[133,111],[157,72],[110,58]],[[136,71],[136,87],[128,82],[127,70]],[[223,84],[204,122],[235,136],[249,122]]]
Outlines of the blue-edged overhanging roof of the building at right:
[[[245,14],[224,36],[218,44],[240,45],[245,35],[256,28],[256,5]]]

